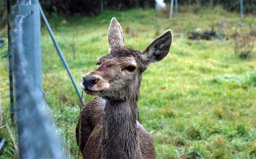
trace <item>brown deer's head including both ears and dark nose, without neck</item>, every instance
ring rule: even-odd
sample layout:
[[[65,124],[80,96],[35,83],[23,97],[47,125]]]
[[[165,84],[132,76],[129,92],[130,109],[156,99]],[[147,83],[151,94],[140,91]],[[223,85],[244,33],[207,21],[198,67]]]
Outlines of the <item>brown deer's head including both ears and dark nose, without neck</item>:
[[[168,55],[172,32],[167,30],[156,38],[144,51],[124,47],[122,28],[115,18],[109,26],[109,53],[96,61],[98,68],[83,76],[81,89],[87,94],[108,100],[137,101],[141,74],[149,64]]]

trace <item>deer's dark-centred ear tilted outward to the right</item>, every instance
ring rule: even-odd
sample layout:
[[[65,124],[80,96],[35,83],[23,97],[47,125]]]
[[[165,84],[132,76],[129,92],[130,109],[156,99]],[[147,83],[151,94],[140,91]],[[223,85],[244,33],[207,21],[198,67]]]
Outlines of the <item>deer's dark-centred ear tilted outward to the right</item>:
[[[142,53],[146,63],[160,61],[168,54],[172,41],[172,32],[167,30],[160,37],[156,38]]]

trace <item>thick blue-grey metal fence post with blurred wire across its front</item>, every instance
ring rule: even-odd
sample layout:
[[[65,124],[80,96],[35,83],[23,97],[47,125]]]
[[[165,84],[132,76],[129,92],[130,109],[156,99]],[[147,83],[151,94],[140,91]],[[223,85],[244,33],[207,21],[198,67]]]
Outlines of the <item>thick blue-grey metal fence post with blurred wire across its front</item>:
[[[38,0],[19,0],[13,27],[19,159],[65,158],[43,110]],[[47,107],[45,105],[45,107]]]

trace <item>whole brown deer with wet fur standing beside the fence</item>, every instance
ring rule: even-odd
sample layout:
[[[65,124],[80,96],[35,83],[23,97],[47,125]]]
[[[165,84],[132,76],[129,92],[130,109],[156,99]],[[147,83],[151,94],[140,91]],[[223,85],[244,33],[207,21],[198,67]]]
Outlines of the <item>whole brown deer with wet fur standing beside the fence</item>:
[[[122,28],[112,18],[108,41],[109,53],[100,56],[96,70],[81,80],[81,89],[97,97],[81,111],[76,127],[79,150],[84,159],[155,159],[137,102],[142,73],[168,55],[172,32],[167,30],[143,51],[134,50],[124,46]]]

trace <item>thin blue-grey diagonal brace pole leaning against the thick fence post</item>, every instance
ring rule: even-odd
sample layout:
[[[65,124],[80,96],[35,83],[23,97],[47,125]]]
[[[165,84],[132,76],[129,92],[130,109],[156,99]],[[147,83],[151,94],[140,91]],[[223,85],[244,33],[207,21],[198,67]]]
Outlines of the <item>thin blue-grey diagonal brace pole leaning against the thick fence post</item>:
[[[68,75],[70,76],[70,79],[71,79],[71,81],[72,81],[72,83],[73,83],[73,85],[74,85],[74,87],[75,87],[75,90],[76,90],[76,92],[77,92],[77,94],[78,94],[78,96],[79,96],[79,98],[80,98],[80,100],[81,100],[81,98],[82,98],[81,93],[80,93],[80,91],[79,91],[79,89],[78,89],[78,87],[77,87],[77,85],[76,85],[76,83],[75,83],[75,80],[74,80],[74,78],[73,78],[73,76],[72,76],[72,73],[70,72],[70,69],[69,69],[69,67],[68,67],[68,64],[66,63],[66,60],[65,60],[65,58],[64,58],[64,56],[63,56],[63,54],[62,54],[62,52],[61,52],[61,50],[60,50],[60,46],[58,45],[58,43],[57,43],[57,41],[56,41],[56,39],[55,39],[55,37],[54,37],[53,31],[51,30],[51,26],[49,25],[49,23],[48,23],[48,21],[47,21],[47,19],[46,19],[46,17],[45,17],[45,14],[43,13],[43,9],[42,9],[41,5],[40,5],[40,14],[41,14],[41,16],[42,16],[42,18],[43,18],[43,21],[45,22],[45,25],[46,25],[47,30],[49,31],[49,34],[50,34],[50,36],[51,36],[51,39],[53,40],[53,44],[55,45],[55,48],[56,48],[56,50],[57,50],[57,52],[58,52],[58,55],[59,55],[59,57],[60,57],[60,59],[61,59],[63,65],[64,65],[64,67],[66,68],[66,70],[67,70],[67,72],[68,72]],[[83,105],[85,106],[85,105],[86,105],[86,104],[85,104],[85,101],[82,100],[82,102],[83,102]]]

